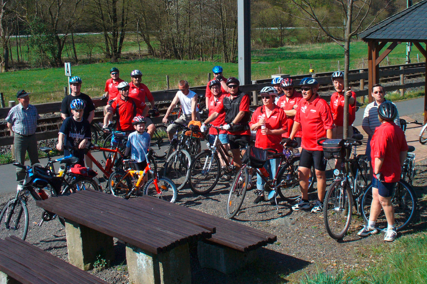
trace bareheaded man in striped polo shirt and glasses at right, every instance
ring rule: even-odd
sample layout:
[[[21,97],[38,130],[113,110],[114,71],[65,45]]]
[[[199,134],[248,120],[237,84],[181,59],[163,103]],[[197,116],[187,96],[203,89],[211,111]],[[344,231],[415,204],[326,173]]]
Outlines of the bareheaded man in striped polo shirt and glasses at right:
[[[372,166],[371,166],[371,139],[372,135],[374,135],[375,129],[381,125],[380,120],[378,119],[378,106],[386,101],[384,96],[386,96],[386,90],[381,84],[375,84],[372,86],[371,96],[374,98],[374,101],[368,104],[365,108],[365,112],[363,113],[363,121],[362,128],[368,134],[368,142],[366,143],[366,152],[365,154],[368,156],[369,161],[369,174],[372,174]],[[397,110],[397,107],[396,107]],[[397,114],[395,120],[395,124],[400,127],[400,118],[399,113]]]

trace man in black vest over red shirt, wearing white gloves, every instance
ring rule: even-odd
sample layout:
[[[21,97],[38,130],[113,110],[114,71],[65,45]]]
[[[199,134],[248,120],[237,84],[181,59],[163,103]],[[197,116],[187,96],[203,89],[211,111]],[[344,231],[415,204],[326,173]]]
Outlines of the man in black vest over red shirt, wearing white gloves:
[[[249,111],[249,95],[239,90],[240,82],[237,78],[228,78],[226,84],[230,96],[223,99],[222,107],[212,113],[211,116],[205,120],[204,124],[212,122],[220,113],[225,112],[226,125],[222,128],[228,130],[230,150],[233,154],[234,165],[238,170],[242,166],[242,161],[240,159],[239,144],[234,141],[243,139],[249,144],[251,140],[251,130],[249,128],[251,116]]]

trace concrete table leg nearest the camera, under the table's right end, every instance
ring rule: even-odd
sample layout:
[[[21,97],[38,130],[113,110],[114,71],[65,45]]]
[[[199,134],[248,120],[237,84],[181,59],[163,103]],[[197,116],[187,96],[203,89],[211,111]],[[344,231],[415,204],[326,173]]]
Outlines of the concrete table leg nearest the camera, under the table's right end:
[[[191,283],[188,243],[158,255],[126,246],[129,284]]]

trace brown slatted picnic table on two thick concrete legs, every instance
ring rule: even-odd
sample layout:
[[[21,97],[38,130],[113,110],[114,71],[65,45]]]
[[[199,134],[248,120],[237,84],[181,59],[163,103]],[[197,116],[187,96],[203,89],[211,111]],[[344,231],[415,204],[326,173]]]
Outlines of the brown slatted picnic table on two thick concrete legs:
[[[37,206],[65,218],[71,264],[88,270],[98,255],[111,260],[114,237],[126,244],[129,283],[190,283],[188,243],[211,238],[215,227],[175,218],[169,205],[181,206],[153,200],[135,203],[85,190],[40,200]]]

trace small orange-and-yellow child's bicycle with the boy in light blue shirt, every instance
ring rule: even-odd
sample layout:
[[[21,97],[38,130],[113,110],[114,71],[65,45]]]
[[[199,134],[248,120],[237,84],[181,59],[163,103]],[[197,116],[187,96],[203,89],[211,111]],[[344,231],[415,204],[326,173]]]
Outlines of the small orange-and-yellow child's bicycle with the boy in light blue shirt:
[[[146,154],[146,157],[147,156],[148,155]],[[147,165],[143,171],[133,170],[130,167],[126,171],[116,169],[116,171],[114,171],[108,178],[108,188],[110,189],[111,194],[114,196],[124,197],[126,199],[131,195],[139,196],[145,175],[151,173],[154,177],[145,183],[145,187],[142,192],[145,192],[146,195],[174,203],[176,196],[178,195],[176,185],[169,178],[159,177],[158,174],[155,174],[150,166],[148,158],[146,161]],[[124,162],[130,165],[135,162],[135,160],[126,159]],[[138,176],[137,180],[135,179],[136,176]]]

